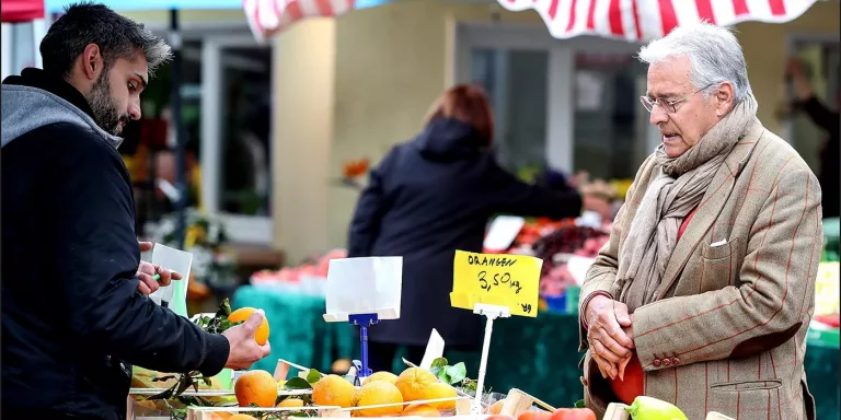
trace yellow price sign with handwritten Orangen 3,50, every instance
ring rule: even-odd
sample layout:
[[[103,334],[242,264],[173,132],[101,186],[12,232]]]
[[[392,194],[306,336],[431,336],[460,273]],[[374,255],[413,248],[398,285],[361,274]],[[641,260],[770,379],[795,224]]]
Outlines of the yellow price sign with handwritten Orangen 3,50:
[[[537,317],[542,266],[526,255],[457,250],[450,304],[470,311],[476,303],[507,306],[511,315]]]

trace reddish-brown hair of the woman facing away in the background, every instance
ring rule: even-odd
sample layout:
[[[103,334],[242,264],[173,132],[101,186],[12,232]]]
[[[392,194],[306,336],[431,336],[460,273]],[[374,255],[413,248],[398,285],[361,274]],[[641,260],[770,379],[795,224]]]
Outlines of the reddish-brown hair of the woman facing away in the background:
[[[458,119],[479,131],[482,145],[494,140],[494,112],[485,91],[475,85],[459,84],[448,89],[433,104],[426,122],[436,118]]]

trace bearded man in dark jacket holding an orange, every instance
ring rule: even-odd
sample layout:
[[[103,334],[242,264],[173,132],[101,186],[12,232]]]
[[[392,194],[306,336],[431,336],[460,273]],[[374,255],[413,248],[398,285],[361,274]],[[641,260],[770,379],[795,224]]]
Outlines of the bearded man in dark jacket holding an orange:
[[[117,135],[140,118],[140,92],[169,46],[82,3],[53,24],[41,54],[44,70],[2,85],[1,417],[124,419],[130,364],[215,375],[266,357],[254,340],[261,312],[207,334],[154,304],[157,285],[138,273]]]

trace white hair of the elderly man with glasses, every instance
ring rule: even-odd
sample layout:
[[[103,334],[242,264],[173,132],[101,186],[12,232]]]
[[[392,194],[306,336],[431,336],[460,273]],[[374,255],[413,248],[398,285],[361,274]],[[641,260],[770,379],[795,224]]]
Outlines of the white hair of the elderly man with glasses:
[[[734,90],[734,104],[738,104],[753,93],[745,55],[734,32],[730,27],[707,22],[678,26],[665,37],[641,48],[637,57],[652,66],[686,56],[692,66],[692,83],[696,89],[704,89],[704,95],[708,95],[708,91],[718,83],[729,82]]]

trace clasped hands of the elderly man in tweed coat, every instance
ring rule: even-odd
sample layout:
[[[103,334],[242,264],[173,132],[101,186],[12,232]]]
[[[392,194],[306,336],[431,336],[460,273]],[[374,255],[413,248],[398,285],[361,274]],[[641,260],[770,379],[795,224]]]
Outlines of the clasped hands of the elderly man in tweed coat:
[[[627,306],[608,296],[594,296],[585,308],[585,320],[589,327],[590,357],[598,364],[601,377],[624,380],[634,349]]]

